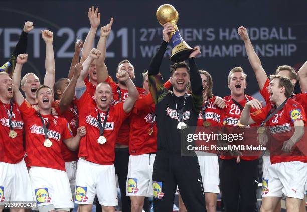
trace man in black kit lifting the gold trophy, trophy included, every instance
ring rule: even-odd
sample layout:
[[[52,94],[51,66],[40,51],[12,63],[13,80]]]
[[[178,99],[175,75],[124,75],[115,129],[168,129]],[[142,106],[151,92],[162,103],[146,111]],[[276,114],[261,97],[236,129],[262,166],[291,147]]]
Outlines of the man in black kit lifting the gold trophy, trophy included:
[[[197,157],[181,156],[181,133],[187,126],[196,126],[201,109],[202,79],[195,63],[200,48],[190,48],[179,35],[176,22],[178,12],[171,5],[157,10],[163,25],[163,42],[149,66],[149,90],[156,105],[158,129],[157,154],[152,176],[155,211],[173,211],[176,185],[188,211],[205,211],[205,197]],[[171,60],[177,63],[170,68],[174,92],[164,88],[159,68],[167,45],[173,44]],[[189,65],[183,61],[189,58]],[[191,81],[192,93],[186,88]],[[176,111],[171,116],[168,111]],[[183,116],[185,118],[183,119]]]

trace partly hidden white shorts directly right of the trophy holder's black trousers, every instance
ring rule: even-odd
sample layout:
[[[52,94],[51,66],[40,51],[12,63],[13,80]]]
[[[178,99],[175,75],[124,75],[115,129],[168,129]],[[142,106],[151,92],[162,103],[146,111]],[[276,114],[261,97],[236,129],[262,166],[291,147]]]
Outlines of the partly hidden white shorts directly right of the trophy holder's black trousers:
[[[216,154],[197,152],[206,193],[220,193],[219,160]],[[200,156],[201,155],[201,156]]]

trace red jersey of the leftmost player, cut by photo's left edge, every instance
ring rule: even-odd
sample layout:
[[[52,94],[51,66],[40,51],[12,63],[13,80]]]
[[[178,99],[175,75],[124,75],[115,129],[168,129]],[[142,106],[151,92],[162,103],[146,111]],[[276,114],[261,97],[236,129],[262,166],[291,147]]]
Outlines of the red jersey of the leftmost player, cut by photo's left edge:
[[[1,102],[1,101],[0,101]],[[5,163],[18,163],[24,155],[23,147],[23,125],[20,111],[15,103],[13,103],[12,120],[11,124],[14,131],[17,133],[17,137],[9,137],[10,125],[10,104],[0,105],[0,162]]]

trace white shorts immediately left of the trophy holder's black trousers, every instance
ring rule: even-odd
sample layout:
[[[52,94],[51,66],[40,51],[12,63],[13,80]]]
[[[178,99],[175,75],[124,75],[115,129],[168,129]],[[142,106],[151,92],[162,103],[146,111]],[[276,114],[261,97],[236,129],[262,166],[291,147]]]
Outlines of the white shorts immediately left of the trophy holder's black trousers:
[[[152,172],[156,154],[130,155],[126,196],[152,197]]]

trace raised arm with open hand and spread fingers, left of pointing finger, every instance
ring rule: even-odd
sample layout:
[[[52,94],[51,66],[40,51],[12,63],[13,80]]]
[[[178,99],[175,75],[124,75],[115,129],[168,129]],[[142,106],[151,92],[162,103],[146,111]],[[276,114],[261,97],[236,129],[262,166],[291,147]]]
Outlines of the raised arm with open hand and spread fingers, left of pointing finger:
[[[84,41],[82,57],[81,57],[81,60],[80,60],[81,63],[84,60],[86,60],[86,58],[90,54],[91,49],[93,48],[93,43],[94,43],[94,40],[95,40],[97,27],[100,24],[100,13],[98,13],[98,8],[96,8],[96,10],[95,10],[94,6],[92,8],[89,8],[87,15],[88,15],[88,19],[89,19],[90,24],[91,24],[91,28],[90,28],[90,30],[89,30],[86,38],[85,38],[85,41]]]

